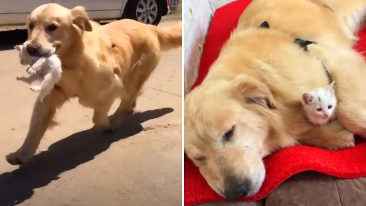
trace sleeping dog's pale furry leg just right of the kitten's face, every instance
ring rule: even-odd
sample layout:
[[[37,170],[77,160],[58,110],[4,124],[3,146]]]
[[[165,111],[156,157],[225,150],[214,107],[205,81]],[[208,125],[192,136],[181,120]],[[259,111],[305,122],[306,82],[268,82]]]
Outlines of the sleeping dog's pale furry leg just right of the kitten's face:
[[[325,64],[335,80],[337,118],[347,130],[366,138],[366,61],[355,51],[328,50]]]

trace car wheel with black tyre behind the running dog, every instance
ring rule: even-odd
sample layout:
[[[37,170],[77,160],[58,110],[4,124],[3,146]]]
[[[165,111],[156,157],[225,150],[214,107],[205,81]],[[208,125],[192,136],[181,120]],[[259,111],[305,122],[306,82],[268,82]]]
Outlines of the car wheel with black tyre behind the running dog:
[[[158,0],[130,0],[127,18],[145,24],[159,24],[162,17],[162,8],[159,8]]]

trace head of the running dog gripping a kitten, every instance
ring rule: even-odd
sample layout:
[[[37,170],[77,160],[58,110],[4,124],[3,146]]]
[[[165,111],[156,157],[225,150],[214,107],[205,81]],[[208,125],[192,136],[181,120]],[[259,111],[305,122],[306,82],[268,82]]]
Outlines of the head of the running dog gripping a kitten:
[[[31,56],[50,56],[58,48],[81,41],[84,31],[92,31],[83,7],[71,10],[57,4],[37,7],[28,17],[28,39],[25,42]]]

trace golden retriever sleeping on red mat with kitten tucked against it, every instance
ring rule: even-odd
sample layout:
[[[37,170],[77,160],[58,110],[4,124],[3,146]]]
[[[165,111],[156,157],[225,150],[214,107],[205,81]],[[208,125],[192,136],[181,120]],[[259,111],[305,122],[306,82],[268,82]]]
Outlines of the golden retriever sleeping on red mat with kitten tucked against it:
[[[203,83],[185,99],[185,152],[228,199],[258,191],[271,152],[366,137],[366,63],[352,49],[366,2],[254,0]],[[269,29],[259,28],[267,21]],[[296,38],[317,42],[308,52]],[[335,80],[338,120],[310,124],[301,95]]]

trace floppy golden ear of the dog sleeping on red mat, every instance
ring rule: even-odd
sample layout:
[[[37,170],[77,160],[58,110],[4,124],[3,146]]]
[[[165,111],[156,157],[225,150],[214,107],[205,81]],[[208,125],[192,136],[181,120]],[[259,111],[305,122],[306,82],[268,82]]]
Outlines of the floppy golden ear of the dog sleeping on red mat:
[[[247,104],[257,104],[266,109],[277,108],[276,99],[269,88],[252,77],[235,78],[234,93],[239,95]]]

